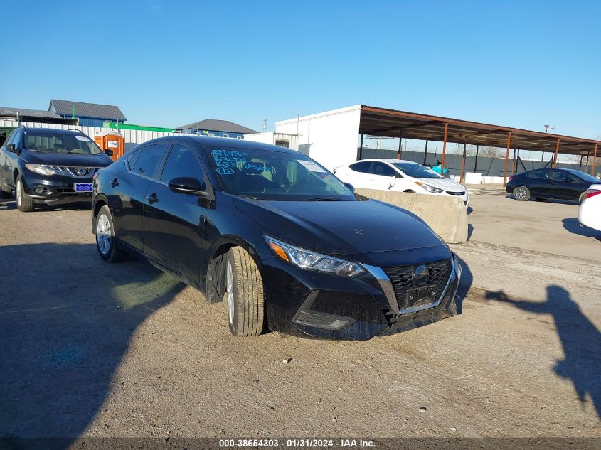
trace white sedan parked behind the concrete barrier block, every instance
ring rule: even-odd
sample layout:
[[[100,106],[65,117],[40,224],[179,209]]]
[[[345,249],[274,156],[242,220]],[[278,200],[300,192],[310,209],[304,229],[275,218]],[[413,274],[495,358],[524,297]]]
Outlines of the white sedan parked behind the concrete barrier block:
[[[334,168],[334,174],[354,188],[415,192],[459,197],[467,206],[467,189],[431,168],[403,159],[362,159]]]

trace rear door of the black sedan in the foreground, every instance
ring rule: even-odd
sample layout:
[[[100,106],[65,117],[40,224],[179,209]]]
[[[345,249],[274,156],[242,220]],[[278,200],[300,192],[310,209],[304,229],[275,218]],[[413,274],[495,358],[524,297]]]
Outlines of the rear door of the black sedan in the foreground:
[[[119,208],[113,211],[115,236],[137,252],[144,252],[144,201],[153,177],[171,143],[143,146],[125,161],[127,176],[110,180],[119,186]]]

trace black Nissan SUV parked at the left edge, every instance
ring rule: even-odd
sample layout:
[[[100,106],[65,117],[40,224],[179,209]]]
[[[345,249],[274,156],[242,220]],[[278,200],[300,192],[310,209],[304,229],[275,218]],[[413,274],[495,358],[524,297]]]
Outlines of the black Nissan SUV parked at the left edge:
[[[15,191],[17,208],[92,198],[92,176],[112,163],[90,137],[77,130],[21,127],[0,148],[0,198]]]

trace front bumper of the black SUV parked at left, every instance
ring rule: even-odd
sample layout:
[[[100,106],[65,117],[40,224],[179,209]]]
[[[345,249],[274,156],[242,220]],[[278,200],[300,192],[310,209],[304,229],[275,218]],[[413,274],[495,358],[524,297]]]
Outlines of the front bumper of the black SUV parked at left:
[[[77,192],[75,184],[92,186],[92,176],[70,177],[64,175],[43,176],[32,171],[21,173],[23,191],[36,203],[58,205],[75,202],[91,202],[92,192]]]

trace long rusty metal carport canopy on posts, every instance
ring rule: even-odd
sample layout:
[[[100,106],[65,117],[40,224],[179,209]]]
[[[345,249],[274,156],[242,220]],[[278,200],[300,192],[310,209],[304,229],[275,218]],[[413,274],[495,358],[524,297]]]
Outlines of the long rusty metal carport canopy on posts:
[[[484,145],[506,148],[505,164],[509,160],[509,149],[553,151],[553,166],[562,154],[590,155],[592,170],[595,169],[597,150],[601,141],[573,136],[562,136],[527,129],[501,127],[499,125],[470,122],[450,117],[417,114],[373,106],[361,105],[359,134],[387,136],[405,139],[442,141],[442,166],[445,166],[447,142]],[[398,157],[401,147],[399,141]],[[464,155],[465,157],[465,155]],[[507,169],[505,169],[506,178]]]

